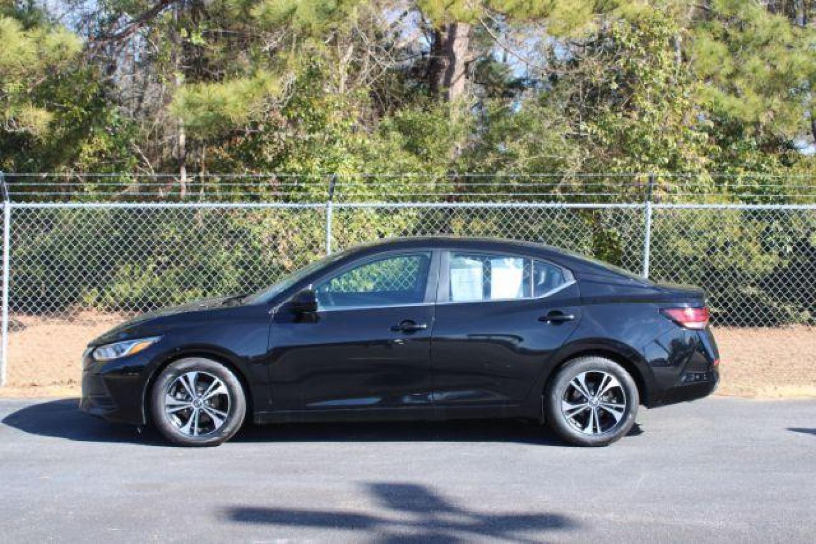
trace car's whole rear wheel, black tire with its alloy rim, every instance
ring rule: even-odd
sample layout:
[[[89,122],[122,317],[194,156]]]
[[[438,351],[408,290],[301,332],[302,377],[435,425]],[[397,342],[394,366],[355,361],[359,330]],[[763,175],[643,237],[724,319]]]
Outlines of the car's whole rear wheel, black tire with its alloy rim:
[[[611,378],[606,381],[605,376]],[[606,392],[596,396],[601,382]],[[583,405],[586,407],[581,408]],[[635,424],[638,405],[640,396],[632,376],[614,360],[596,356],[579,357],[561,367],[543,399],[552,430],[579,446],[605,446],[626,436]]]

